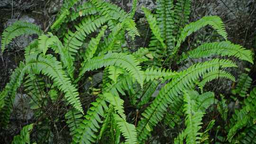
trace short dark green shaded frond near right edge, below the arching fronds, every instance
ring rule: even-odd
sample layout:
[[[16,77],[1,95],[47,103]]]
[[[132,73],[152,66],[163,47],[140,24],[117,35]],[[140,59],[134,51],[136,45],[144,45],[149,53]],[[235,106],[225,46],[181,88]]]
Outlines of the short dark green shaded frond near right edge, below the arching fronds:
[[[242,73],[238,78],[238,84],[234,92],[241,97],[246,97],[247,91],[251,87],[251,83],[252,78],[247,73]]]

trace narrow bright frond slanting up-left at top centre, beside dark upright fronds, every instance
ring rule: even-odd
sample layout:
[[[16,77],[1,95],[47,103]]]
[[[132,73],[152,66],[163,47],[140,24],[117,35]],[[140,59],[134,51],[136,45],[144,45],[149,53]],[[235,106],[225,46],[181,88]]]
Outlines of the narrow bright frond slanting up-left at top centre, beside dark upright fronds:
[[[164,39],[161,37],[160,28],[157,25],[156,18],[151,14],[151,12],[146,9],[145,7],[142,7],[142,10],[145,13],[146,19],[148,21],[148,24],[152,30],[152,33],[156,37],[158,41],[160,41],[161,45],[166,48],[166,45],[164,43]]]

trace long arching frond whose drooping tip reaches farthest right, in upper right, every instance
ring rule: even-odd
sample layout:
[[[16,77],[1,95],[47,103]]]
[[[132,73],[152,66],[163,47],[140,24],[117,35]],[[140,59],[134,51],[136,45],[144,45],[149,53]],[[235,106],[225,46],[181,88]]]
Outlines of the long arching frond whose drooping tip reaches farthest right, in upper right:
[[[234,56],[240,60],[253,63],[252,52],[246,50],[241,45],[234,45],[229,41],[206,43],[200,45],[196,49],[189,51],[188,54],[183,54],[183,60],[189,58],[201,58],[210,57],[213,54],[219,54],[221,56]]]

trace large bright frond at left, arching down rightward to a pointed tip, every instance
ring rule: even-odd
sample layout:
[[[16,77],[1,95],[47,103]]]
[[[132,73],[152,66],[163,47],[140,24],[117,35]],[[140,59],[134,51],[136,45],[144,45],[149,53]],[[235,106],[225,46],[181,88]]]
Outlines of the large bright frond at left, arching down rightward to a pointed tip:
[[[59,90],[65,93],[66,100],[77,110],[83,113],[82,104],[79,100],[77,89],[72,85],[70,79],[62,70],[61,63],[50,54],[30,54],[26,59],[26,67],[37,69],[37,71],[49,76],[58,86]]]

